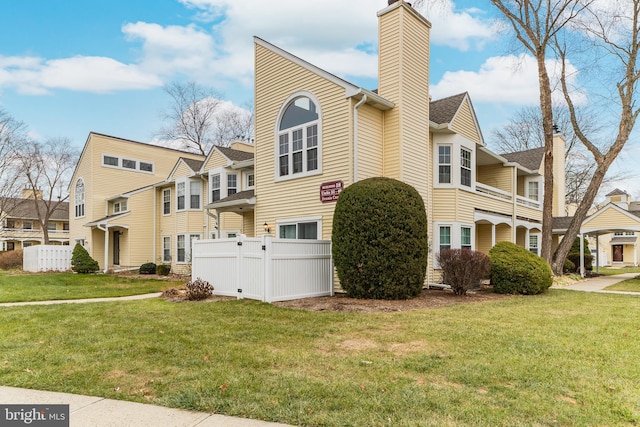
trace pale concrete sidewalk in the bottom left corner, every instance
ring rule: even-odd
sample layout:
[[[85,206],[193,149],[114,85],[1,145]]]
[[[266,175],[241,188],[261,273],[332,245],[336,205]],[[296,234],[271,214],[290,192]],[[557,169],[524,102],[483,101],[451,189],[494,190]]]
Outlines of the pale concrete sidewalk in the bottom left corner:
[[[143,403],[0,386],[0,404],[68,404],[71,427],[287,427],[287,424]],[[2,425],[0,414],[0,425]]]

